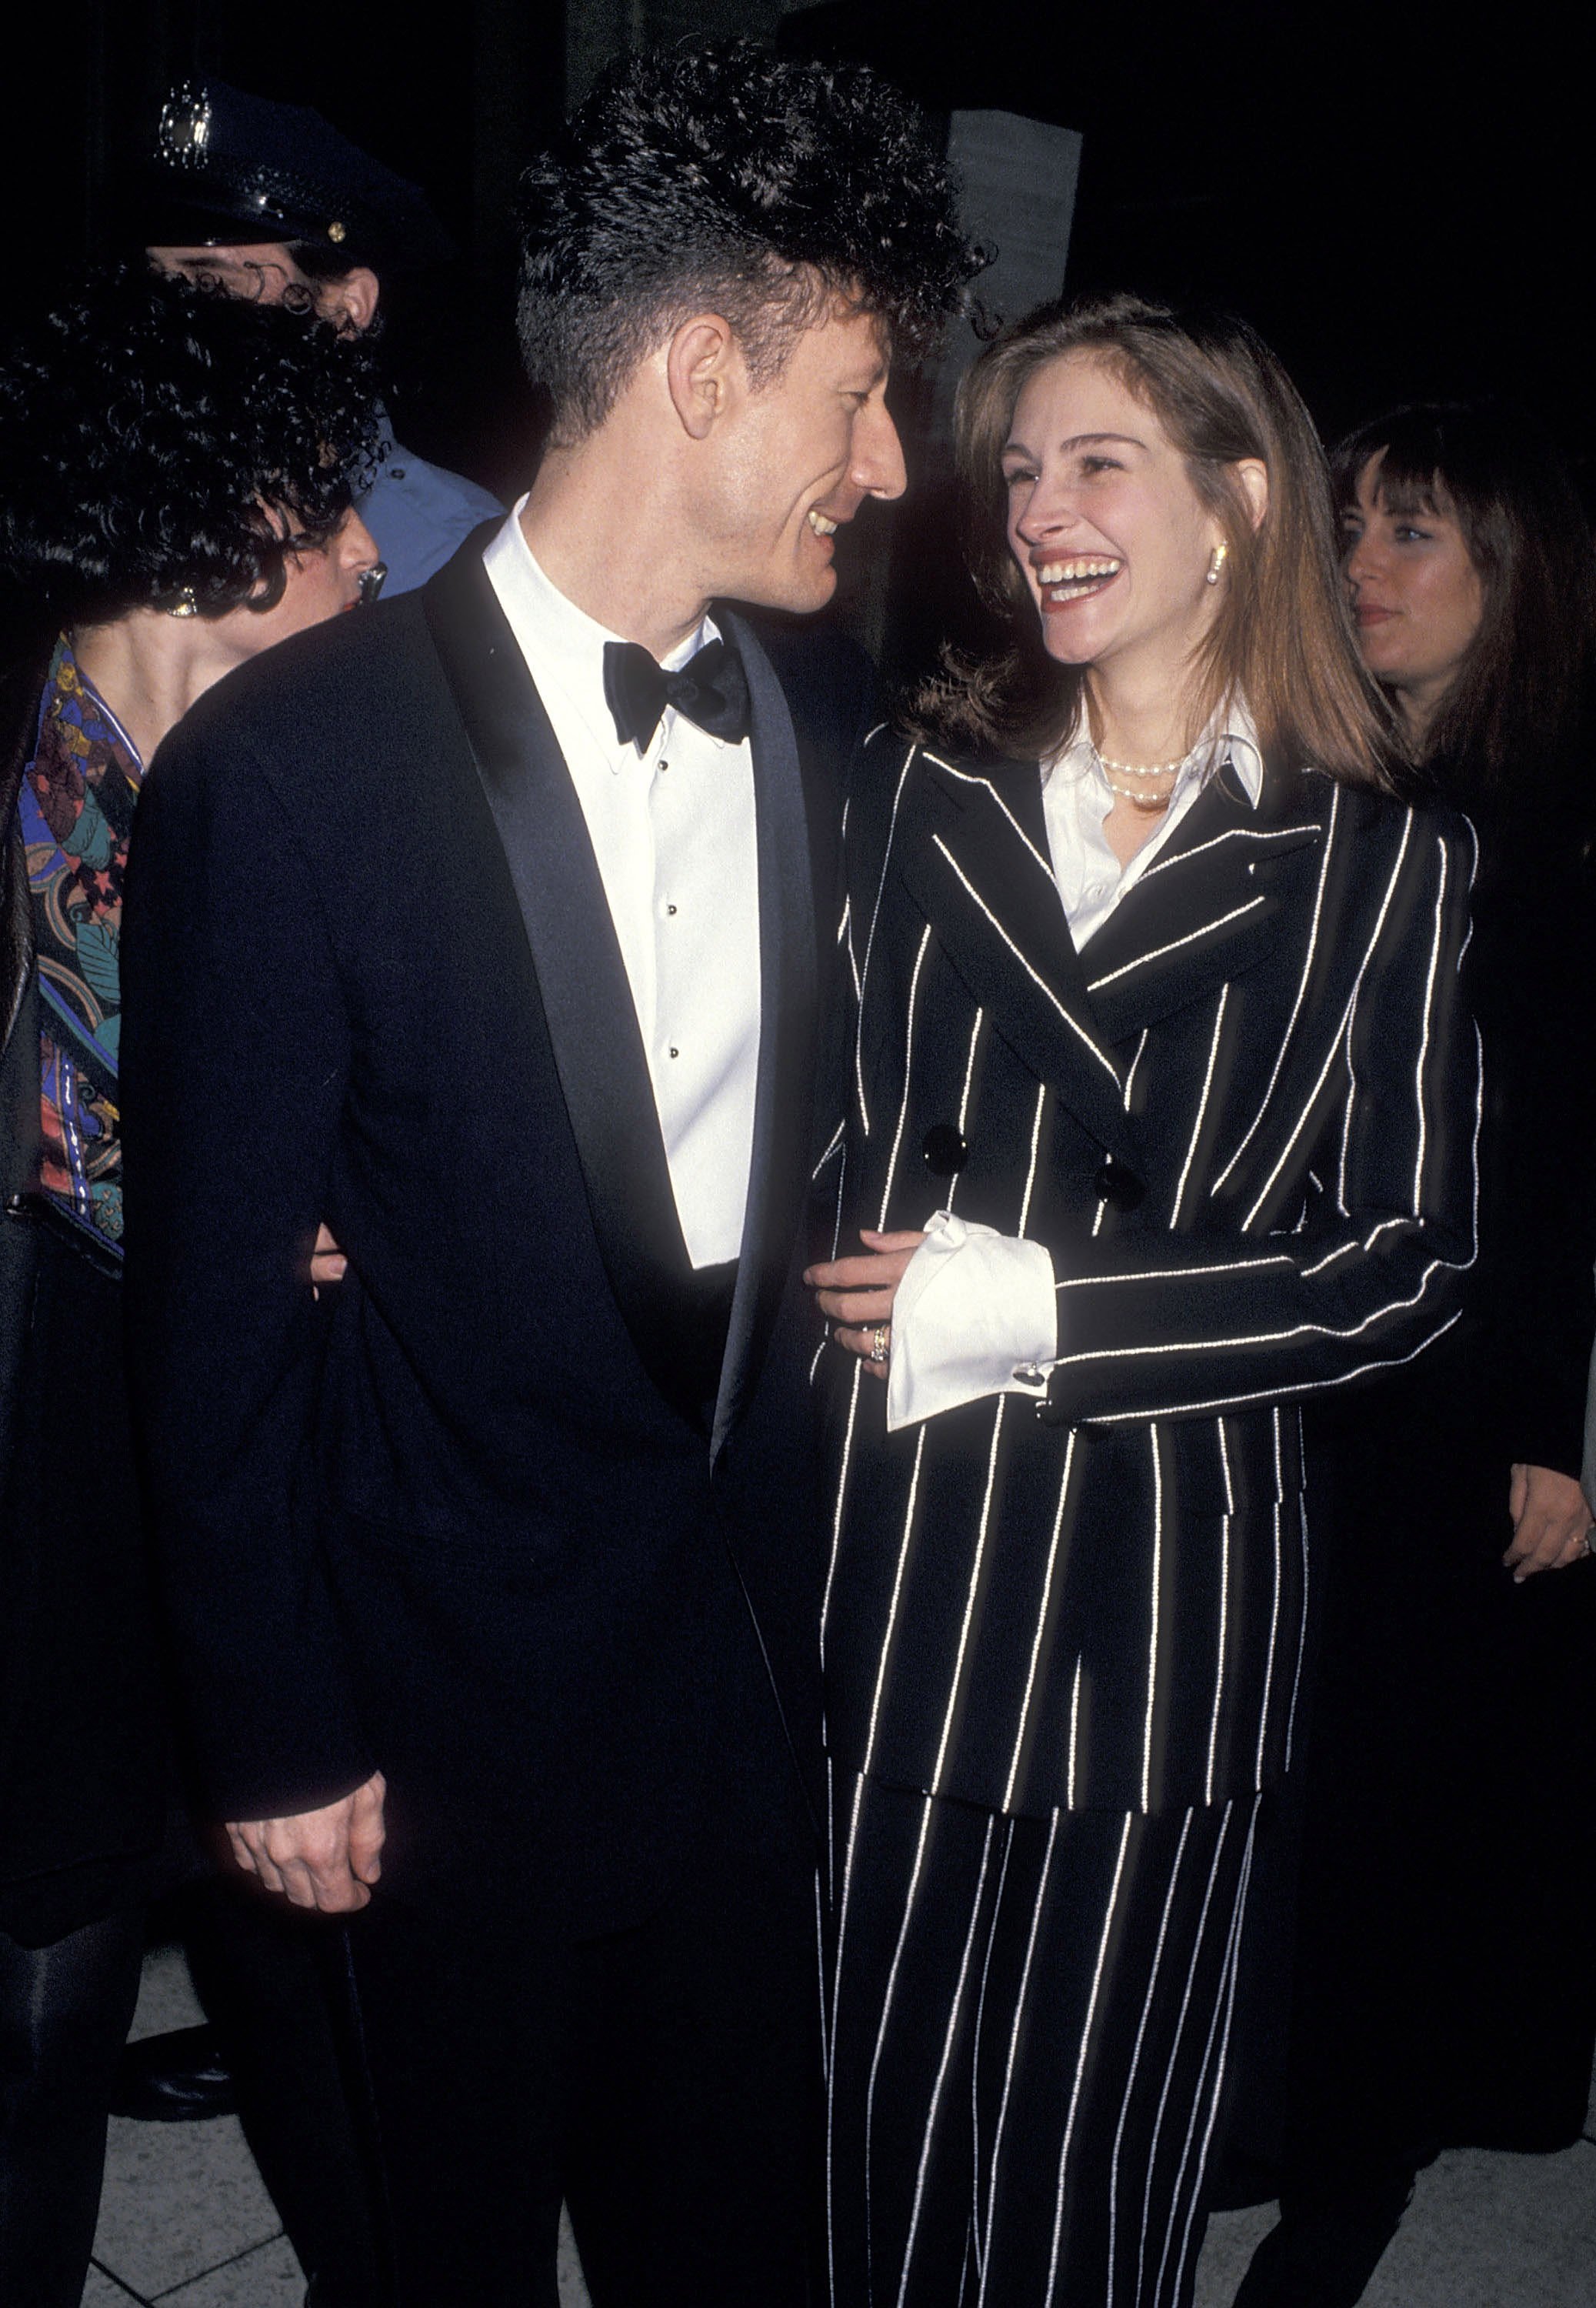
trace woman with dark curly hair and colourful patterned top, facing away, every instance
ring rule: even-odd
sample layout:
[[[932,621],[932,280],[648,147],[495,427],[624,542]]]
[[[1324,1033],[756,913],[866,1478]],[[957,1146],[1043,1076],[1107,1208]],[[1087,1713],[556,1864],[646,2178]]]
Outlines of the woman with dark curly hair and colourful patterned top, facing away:
[[[122,1362],[120,930],[145,764],[355,607],[376,439],[325,323],[143,272],[0,360],[0,2292],[76,2308],[166,1814]]]

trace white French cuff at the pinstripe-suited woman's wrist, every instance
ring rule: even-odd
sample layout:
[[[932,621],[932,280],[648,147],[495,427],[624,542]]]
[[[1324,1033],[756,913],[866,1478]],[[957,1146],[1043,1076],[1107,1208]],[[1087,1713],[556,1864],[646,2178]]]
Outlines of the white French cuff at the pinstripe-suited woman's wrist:
[[[1042,1244],[939,1209],[893,1302],[888,1429],[983,1394],[1047,1394],[1056,1352],[1054,1262]]]

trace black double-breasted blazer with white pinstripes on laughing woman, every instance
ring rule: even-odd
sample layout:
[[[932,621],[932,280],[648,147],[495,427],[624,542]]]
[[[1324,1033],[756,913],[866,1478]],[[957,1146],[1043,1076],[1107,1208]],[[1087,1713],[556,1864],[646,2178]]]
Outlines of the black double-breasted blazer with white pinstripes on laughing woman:
[[[1038,769],[879,732],[846,854],[837,1237],[939,1205],[1036,1237],[1059,1362],[1040,1406],[888,1433],[821,1357],[830,1749],[1017,1812],[1268,1784],[1296,1403],[1416,1355],[1474,1258],[1471,833],[1278,766],[1252,808],[1227,764],[1077,956]]]

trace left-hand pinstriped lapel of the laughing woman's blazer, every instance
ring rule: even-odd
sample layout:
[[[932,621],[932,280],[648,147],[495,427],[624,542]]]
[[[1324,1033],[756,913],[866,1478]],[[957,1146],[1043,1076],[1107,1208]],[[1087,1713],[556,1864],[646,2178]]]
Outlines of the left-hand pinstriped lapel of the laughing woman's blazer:
[[[1135,1159],[1123,1085],[1063,916],[1031,764],[962,771],[925,757],[929,808],[899,872],[992,1027],[1056,1087],[1098,1145]]]

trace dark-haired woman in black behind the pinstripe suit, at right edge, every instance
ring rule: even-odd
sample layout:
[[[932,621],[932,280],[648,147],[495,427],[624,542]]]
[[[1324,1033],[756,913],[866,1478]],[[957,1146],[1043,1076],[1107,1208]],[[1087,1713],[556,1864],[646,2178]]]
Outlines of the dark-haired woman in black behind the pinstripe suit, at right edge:
[[[1335,452],[1363,658],[1478,831],[1481,1253],[1335,1468],[1282,2223],[1245,2308],[1356,2301],[1437,2146],[1578,2140],[1596,2043],[1596,559],[1534,425],[1402,409]]]

